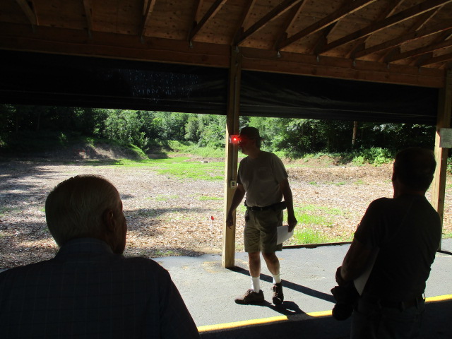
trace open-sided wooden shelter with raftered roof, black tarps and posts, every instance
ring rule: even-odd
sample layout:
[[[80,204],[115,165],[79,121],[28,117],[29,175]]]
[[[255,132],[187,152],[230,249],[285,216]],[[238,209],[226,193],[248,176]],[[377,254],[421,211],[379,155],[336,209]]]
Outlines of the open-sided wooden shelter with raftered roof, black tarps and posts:
[[[239,114],[436,125],[442,219],[451,37],[452,0],[5,0],[0,102],[223,114],[226,140]]]

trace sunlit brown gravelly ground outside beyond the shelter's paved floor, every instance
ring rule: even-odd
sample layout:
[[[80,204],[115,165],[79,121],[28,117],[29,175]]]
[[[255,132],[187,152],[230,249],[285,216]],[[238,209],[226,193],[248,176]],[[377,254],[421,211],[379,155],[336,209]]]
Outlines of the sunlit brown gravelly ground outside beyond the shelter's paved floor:
[[[97,150],[95,154],[102,159],[118,156],[111,150]],[[77,174],[100,174],[117,186],[129,225],[126,256],[220,253],[224,222],[221,180],[179,180],[159,175],[150,167],[93,165],[85,161],[93,157],[77,150],[71,162],[61,157],[0,161],[0,268],[54,256],[57,245],[46,227],[44,201],[54,186]],[[369,203],[392,195],[392,165],[340,166],[325,159],[285,163],[295,206],[304,206],[309,209],[307,213],[323,218],[320,225],[300,222],[298,230],[310,227],[331,239],[351,239]],[[450,234],[449,179],[444,232]],[[237,251],[243,248],[243,211],[237,210]]]

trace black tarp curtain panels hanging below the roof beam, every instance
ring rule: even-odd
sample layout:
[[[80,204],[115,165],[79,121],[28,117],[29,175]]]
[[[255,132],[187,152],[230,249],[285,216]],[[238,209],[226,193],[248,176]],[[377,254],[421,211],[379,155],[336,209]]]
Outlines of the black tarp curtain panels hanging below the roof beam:
[[[1,50],[0,102],[226,114],[228,70]],[[438,90],[242,71],[244,116],[436,124]]]

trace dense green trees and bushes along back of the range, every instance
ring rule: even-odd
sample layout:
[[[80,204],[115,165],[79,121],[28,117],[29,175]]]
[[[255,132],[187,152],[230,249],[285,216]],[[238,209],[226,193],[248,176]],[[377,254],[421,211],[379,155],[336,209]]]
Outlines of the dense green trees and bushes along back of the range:
[[[144,151],[169,141],[224,148],[225,123],[225,116],[207,114],[0,105],[0,147],[37,135],[59,143],[78,135],[133,144]],[[241,117],[240,127],[247,125],[261,131],[266,150],[291,157],[348,152],[362,160],[412,145],[432,148],[435,131],[434,126],[359,122],[352,143],[353,121]]]

